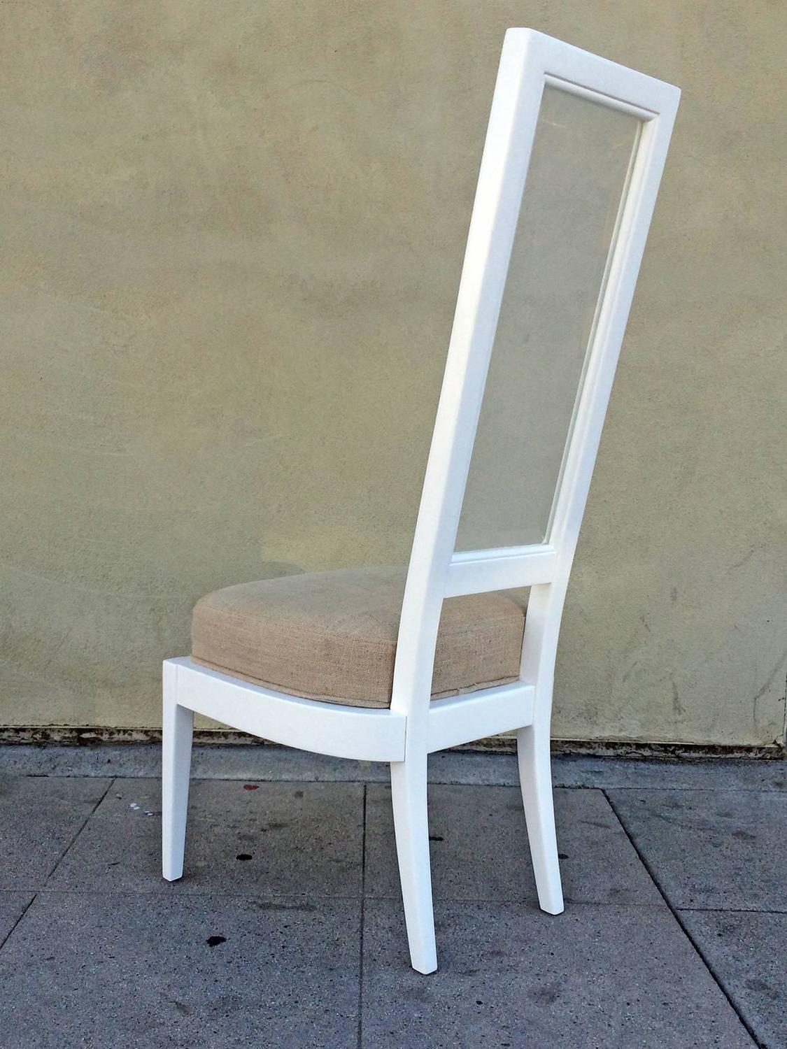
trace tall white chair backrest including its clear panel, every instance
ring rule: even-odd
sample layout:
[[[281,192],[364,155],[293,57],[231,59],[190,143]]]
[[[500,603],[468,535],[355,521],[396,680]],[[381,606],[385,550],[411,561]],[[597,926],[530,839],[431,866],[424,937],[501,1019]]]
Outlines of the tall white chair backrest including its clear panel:
[[[679,98],[532,29],[506,34],[402,606],[391,707],[413,719],[413,740],[442,603],[462,594],[531,587],[522,676],[549,718],[566,587]],[[556,217],[562,228],[550,230]]]

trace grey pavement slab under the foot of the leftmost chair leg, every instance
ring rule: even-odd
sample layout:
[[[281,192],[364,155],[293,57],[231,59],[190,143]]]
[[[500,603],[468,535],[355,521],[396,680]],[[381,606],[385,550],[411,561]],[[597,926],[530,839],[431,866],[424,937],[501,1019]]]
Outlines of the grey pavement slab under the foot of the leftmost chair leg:
[[[360,896],[361,784],[194,780],[184,877],[161,874],[156,779],[116,779],[47,889]]]

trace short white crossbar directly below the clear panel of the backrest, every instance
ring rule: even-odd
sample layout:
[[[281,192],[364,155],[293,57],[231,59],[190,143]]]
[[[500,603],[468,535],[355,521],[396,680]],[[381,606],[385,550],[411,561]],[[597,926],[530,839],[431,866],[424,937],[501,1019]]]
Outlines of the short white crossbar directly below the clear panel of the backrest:
[[[556,563],[557,551],[548,543],[461,551],[448,562],[445,596],[549,583],[554,578]]]

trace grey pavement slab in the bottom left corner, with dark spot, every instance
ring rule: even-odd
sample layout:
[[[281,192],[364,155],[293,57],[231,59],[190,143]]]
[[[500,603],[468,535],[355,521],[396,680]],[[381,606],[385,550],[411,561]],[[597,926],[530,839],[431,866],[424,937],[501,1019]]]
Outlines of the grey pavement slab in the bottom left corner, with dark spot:
[[[0,951],[3,1049],[356,1046],[360,903],[42,893]]]

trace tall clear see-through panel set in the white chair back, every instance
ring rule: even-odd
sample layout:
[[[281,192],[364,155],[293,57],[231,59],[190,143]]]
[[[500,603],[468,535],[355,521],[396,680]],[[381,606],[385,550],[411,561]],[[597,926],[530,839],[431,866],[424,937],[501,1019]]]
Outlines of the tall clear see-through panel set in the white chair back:
[[[458,550],[545,538],[639,128],[545,88]]]

